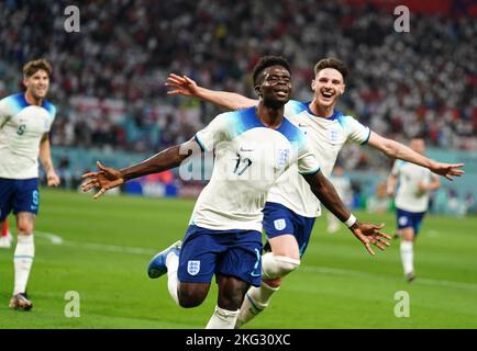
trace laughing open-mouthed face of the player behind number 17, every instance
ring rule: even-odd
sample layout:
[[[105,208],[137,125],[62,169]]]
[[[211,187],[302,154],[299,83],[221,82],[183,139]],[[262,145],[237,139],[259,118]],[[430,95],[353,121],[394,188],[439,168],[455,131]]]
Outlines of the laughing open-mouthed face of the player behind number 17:
[[[314,91],[314,100],[320,106],[333,107],[336,100],[344,93],[343,76],[334,68],[324,68],[314,77],[311,89]]]

